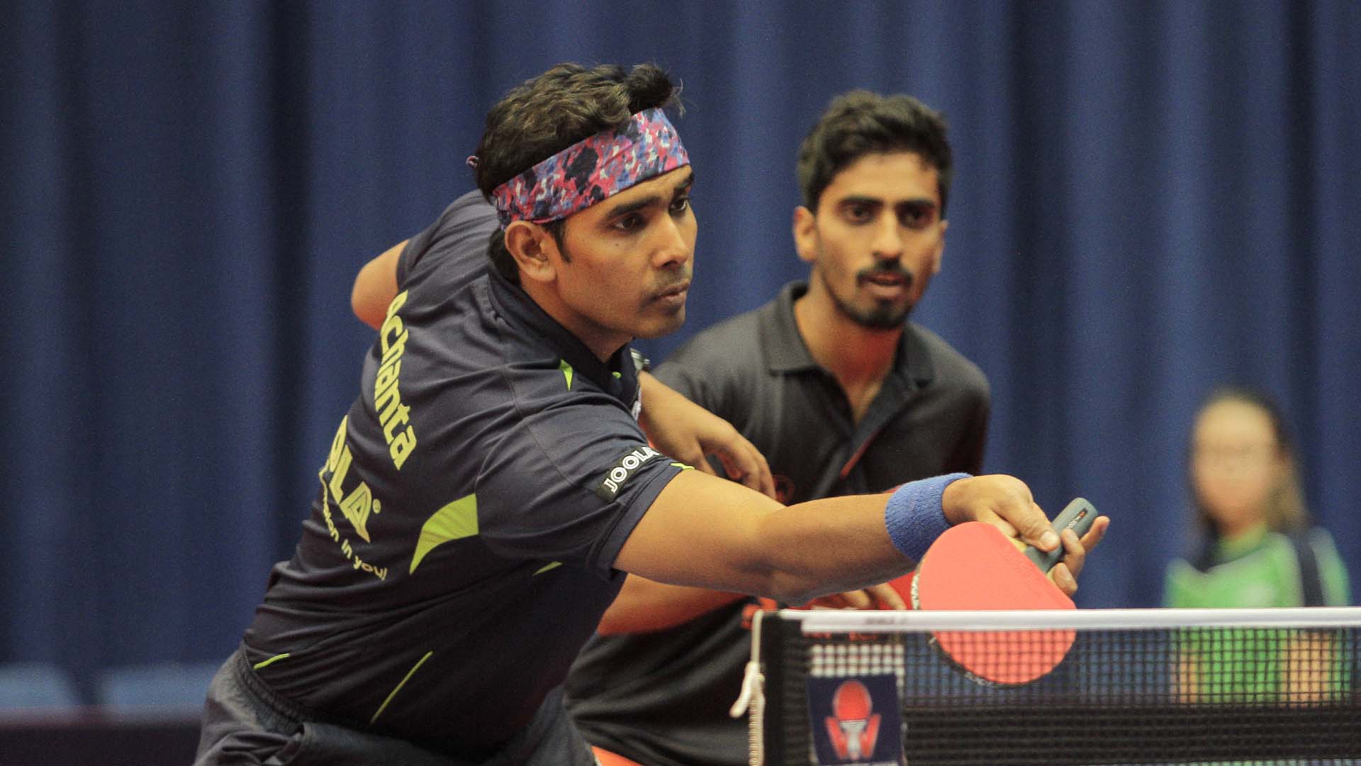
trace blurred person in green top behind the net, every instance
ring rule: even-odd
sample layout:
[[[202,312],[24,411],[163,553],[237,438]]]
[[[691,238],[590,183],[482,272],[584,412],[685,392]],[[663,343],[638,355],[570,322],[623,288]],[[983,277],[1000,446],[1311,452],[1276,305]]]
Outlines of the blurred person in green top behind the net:
[[[1210,394],[1192,428],[1188,478],[1199,548],[1192,559],[1168,567],[1165,605],[1350,602],[1347,571],[1332,537],[1309,525],[1294,448],[1266,395],[1237,387]],[[1317,699],[1341,691],[1345,680],[1332,677],[1324,637],[1258,632],[1214,647],[1198,647],[1194,635],[1183,641],[1181,698],[1222,702],[1289,692],[1293,699]]]

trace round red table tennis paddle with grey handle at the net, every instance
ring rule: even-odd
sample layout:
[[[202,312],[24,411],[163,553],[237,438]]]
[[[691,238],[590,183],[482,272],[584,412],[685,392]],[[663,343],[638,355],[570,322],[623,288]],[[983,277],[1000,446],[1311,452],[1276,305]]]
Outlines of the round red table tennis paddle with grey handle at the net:
[[[1078,497],[1053,519],[1053,529],[1086,534],[1097,510]],[[913,609],[1074,609],[1072,600],[1045,577],[1063,555],[1025,545],[984,522],[947,529],[917,564]],[[931,643],[969,677],[987,686],[1030,683],[1067,656],[1072,630],[932,631]]]

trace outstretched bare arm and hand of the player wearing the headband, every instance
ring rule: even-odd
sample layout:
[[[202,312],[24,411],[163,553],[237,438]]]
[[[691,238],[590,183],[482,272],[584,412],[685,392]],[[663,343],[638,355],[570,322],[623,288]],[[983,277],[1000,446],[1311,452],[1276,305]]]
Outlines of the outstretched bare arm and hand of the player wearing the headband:
[[[1060,544],[1030,489],[1017,478],[955,480],[945,487],[934,507],[902,502],[930,481],[939,480],[912,482],[894,495],[827,497],[783,507],[735,482],[683,472],[634,527],[615,567],[659,582],[770,596],[796,604],[859,590],[906,572],[915,560],[904,549],[920,556],[930,542],[917,540],[917,545],[905,545],[897,525],[900,532],[890,537],[886,523],[890,504],[890,522],[901,522],[911,507],[913,514],[931,517],[915,515],[913,521],[927,519],[938,526],[984,521],[1014,530],[1017,537],[1044,551]],[[1081,567],[1083,552],[1075,552],[1075,547],[1067,548],[1068,562]]]

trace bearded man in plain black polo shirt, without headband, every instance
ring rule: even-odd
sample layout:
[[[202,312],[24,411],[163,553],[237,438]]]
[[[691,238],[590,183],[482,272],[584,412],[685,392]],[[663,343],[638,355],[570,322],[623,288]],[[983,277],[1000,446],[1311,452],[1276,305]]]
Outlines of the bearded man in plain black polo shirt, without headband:
[[[698,334],[657,376],[751,439],[785,503],[977,473],[987,380],[906,320],[945,249],[945,121],[906,95],[848,93],[804,139],[798,174],[793,239],[808,281]],[[1063,567],[1055,577],[1077,585]],[[728,706],[750,657],[751,602],[630,577],[569,677],[587,739],[646,766],[746,763],[746,722]],[[902,607],[889,586],[819,602]]]

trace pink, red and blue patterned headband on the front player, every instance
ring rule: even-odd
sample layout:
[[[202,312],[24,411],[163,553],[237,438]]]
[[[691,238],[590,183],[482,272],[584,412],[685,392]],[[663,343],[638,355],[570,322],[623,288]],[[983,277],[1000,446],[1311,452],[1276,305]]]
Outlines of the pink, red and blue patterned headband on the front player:
[[[666,112],[646,109],[491,189],[491,203],[502,228],[512,221],[546,224],[689,164]]]

